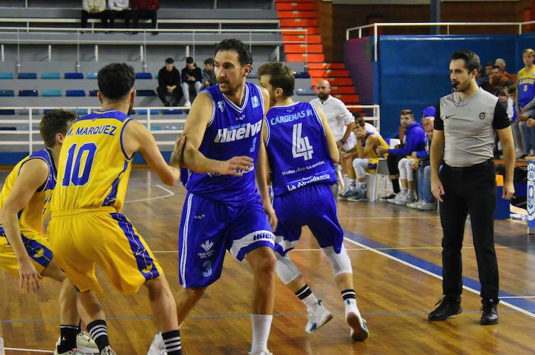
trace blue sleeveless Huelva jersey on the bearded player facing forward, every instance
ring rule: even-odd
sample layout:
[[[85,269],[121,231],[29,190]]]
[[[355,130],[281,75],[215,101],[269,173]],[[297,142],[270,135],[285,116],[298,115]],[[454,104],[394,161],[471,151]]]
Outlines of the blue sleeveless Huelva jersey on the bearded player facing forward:
[[[247,155],[256,163],[264,119],[264,100],[260,88],[245,83],[244,99],[237,107],[220,91],[218,85],[203,92],[212,99],[212,119],[202,138],[199,151],[206,158],[229,160]],[[242,206],[252,197],[259,198],[254,179],[254,165],[242,177],[188,171],[185,188],[195,195],[231,206]]]

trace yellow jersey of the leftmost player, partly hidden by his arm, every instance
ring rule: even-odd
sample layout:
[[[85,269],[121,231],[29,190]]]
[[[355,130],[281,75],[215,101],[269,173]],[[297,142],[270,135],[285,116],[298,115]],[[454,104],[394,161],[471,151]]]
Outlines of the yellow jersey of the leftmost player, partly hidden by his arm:
[[[52,152],[48,149],[43,149],[18,162],[15,168],[11,170],[11,173],[6,178],[4,186],[0,192],[0,209],[6,203],[13,185],[15,185],[16,178],[21,171],[22,166],[31,159],[41,159],[48,164],[48,178],[42,186],[33,194],[31,200],[26,206],[18,212],[18,225],[21,229],[21,234],[43,234],[43,222],[50,213],[48,204],[50,203],[50,197],[55,185],[55,166],[52,158]],[[4,233],[4,230],[0,226],[0,235]]]

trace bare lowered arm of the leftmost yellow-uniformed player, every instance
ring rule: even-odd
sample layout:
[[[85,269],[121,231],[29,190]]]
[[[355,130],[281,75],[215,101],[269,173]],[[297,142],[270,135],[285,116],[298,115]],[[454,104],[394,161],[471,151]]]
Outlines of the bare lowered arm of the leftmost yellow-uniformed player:
[[[0,222],[4,227],[7,240],[13,248],[18,261],[19,286],[21,289],[38,290],[39,274],[31,262],[21,239],[21,229],[18,226],[18,212],[30,202],[33,194],[48,179],[48,164],[41,159],[28,160],[22,165],[13,189],[0,210]]]

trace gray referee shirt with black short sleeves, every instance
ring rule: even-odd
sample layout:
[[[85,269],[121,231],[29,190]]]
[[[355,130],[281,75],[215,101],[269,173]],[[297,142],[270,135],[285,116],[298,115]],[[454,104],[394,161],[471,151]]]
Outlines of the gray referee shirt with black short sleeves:
[[[511,125],[498,98],[478,89],[468,99],[459,92],[441,98],[435,129],[444,131],[444,162],[455,167],[483,163],[493,158],[495,129]]]

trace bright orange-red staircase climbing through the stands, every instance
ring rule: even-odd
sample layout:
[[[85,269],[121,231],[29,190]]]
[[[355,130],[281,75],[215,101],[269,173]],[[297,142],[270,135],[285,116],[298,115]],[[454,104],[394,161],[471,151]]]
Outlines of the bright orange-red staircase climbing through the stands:
[[[275,0],[275,9],[282,29],[307,30],[307,35],[283,33],[286,62],[306,62],[313,86],[319,80],[326,79],[330,82],[334,97],[346,105],[358,104],[359,96],[345,64],[325,62],[313,0]],[[304,41],[305,38],[306,44],[292,43]]]

